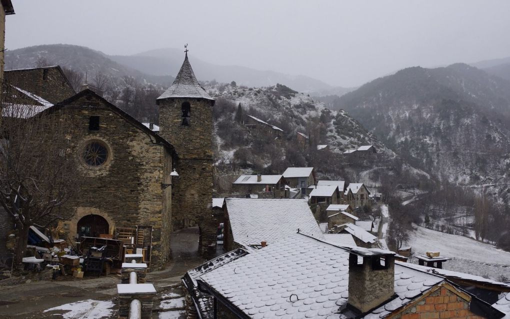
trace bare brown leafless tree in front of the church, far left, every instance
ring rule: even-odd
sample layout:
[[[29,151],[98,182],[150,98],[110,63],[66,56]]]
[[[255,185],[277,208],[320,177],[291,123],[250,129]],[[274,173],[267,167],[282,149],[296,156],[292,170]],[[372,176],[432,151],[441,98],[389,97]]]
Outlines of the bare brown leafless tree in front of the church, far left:
[[[72,122],[63,111],[7,104],[0,132],[0,205],[17,230],[15,264],[20,266],[29,229],[67,219],[62,205],[80,189],[66,135]]]

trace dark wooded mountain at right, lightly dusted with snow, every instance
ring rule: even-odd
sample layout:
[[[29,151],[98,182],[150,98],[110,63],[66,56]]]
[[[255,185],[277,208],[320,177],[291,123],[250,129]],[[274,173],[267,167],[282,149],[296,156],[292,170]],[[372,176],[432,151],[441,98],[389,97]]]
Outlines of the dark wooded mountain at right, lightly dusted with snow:
[[[507,203],[510,82],[461,63],[411,67],[334,105],[413,165]]]

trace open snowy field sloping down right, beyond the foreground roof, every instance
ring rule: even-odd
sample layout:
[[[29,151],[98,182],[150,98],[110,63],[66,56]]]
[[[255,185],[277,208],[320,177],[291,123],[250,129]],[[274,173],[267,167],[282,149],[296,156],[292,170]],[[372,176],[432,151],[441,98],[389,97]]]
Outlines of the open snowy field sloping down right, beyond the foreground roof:
[[[414,256],[439,251],[441,256],[451,258],[443,264],[445,269],[497,281],[501,281],[502,276],[510,280],[510,253],[467,237],[415,227],[417,230],[407,242]],[[412,262],[418,263],[416,258]]]

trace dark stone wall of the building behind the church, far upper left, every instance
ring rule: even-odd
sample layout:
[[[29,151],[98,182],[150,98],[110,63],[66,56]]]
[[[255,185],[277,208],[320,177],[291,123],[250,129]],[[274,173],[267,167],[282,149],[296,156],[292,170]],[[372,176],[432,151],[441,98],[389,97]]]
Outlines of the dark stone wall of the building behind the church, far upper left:
[[[54,104],[76,94],[59,66],[6,71],[4,76],[7,83]]]

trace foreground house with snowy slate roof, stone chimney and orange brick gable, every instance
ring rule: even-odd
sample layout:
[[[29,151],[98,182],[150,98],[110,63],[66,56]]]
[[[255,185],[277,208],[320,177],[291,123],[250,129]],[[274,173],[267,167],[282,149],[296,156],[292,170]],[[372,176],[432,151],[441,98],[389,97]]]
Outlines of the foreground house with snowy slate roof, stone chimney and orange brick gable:
[[[201,318],[502,318],[444,276],[395,261],[380,249],[344,248],[295,233],[237,249],[191,269],[183,282]],[[499,303],[499,304],[498,304]]]

